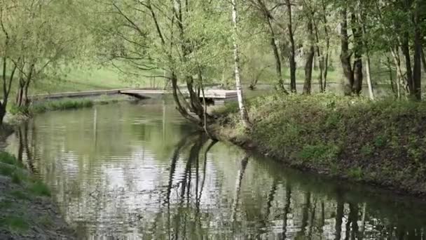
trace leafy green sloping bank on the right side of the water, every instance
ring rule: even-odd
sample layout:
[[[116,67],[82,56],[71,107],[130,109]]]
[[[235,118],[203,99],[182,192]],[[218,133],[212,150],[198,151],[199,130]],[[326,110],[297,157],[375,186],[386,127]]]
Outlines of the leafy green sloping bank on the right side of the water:
[[[218,109],[219,136],[289,166],[426,196],[426,104],[270,95]]]

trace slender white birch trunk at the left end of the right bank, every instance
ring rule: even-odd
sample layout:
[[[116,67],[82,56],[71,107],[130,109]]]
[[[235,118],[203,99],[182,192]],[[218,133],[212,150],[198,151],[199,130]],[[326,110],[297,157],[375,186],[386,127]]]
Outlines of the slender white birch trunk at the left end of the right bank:
[[[240,107],[240,115],[242,124],[246,128],[250,127],[249,115],[245,108],[244,95],[242,93],[242,84],[240,79],[240,53],[238,50],[238,12],[236,0],[232,3],[232,20],[233,20],[233,45],[234,45],[234,64],[235,64],[235,86],[237,88],[238,106]]]

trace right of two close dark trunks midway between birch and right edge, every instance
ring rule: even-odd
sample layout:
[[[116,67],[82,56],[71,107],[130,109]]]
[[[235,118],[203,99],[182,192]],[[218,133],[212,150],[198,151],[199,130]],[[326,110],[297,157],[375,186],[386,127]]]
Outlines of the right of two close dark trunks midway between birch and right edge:
[[[362,29],[361,25],[359,25],[358,18],[355,13],[351,15],[351,25],[352,25],[352,33],[354,36],[355,42],[355,61],[354,61],[354,69],[353,69],[353,85],[352,91],[356,95],[359,95],[362,90],[362,79],[364,78],[362,73]]]

